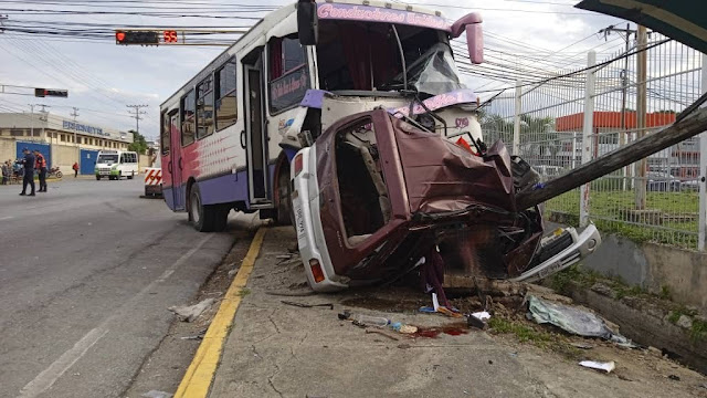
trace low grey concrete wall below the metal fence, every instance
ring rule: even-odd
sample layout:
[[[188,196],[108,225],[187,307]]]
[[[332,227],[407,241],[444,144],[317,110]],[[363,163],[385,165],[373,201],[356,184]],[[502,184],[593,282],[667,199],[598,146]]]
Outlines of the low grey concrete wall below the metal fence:
[[[667,286],[674,301],[707,310],[707,252],[602,235],[601,247],[583,264],[652,293]]]

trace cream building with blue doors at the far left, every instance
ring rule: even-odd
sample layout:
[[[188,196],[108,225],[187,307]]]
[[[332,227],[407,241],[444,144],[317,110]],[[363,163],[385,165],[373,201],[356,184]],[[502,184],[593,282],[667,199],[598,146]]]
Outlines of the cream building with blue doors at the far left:
[[[51,113],[0,113],[0,159],[20,157],[22,148],[39,149],[50,167],[93,174],[102,149],[127,150],[133,134],[95,124],[74,122]]]

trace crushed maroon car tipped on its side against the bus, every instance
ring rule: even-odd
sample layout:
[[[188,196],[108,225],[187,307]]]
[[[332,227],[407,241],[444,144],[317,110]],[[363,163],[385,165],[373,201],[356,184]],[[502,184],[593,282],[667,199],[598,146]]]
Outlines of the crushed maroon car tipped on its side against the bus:
[[[299,150],[292,198],[310,286],[389,282],[436,252],[447,272],[535,281],[599,247],[594,226],[544,239],[541,210],[515,203],[537,172],[500,142],[475,147],[377,109],[342,118]]]

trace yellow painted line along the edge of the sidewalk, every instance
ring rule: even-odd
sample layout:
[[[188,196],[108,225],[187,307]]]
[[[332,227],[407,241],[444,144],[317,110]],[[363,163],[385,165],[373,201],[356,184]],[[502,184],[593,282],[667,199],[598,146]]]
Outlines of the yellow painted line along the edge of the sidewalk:
[[[217,312],[211,325],[207,331],[207,334],[199,345],[197,355],[191,360],[191,365],[187,369],[184,377],[179,384],[179,388],[175,394],[175,398],[201,398],[209,395],[213,376],[217,371],[219,360],[221,359],[221,353],[223,352],[223,343],[229,335],[229,329],[233,324],[235,317],[235,311],[241,304],[242,289],[245,287],[247,279],[253,272],[253,265],[255,259],[263,245],[263,239],[265,238],[265,229],[261,228],[255,233],[253,242],[243,259],[243,263],[239,269],[239,273],[231,283],[229,291],[225,292],[219,312]]]

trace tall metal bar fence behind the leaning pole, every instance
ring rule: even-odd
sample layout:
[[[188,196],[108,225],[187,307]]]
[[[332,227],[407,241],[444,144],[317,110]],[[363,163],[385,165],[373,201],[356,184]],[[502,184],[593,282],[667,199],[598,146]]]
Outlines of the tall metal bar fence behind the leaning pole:
[[[590,51],[589,70],[518,82],[515,93],[504,92],[483,109],[486,139],[513,143],[514,154],[551,179],[659,134],[707,88],[704,55],[657,33],[641,43],[646,51],[634,48],[599,62]],[[707,135],[701,137],[701,149],[699,137],[687,139],[553,198],[546,214],[580,227],[591,220],[603,232],[637,241],[704,250],[707,200],[699,178],[707,171]]]

